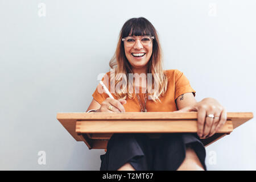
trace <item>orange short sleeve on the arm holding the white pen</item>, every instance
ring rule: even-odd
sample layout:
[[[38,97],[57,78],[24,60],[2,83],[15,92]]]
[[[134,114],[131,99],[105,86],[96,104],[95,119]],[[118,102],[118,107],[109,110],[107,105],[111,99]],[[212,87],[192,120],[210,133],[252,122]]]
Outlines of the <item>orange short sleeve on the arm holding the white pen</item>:
[[[104,77],[102,77],[101,81],[105,84],[106,88],[109,89],[109,75],[108,73],[106,73],[104,75]],[[105,93],[105,90],[103,88],[103,86],[101,86],[101,84],[99,83],[96,90],[94,91],[94,93],[92,94],[93,99],[96,100],[98,103],[102,103],[103,101],[106,100],[106,98],[108,98],[108,94]]]

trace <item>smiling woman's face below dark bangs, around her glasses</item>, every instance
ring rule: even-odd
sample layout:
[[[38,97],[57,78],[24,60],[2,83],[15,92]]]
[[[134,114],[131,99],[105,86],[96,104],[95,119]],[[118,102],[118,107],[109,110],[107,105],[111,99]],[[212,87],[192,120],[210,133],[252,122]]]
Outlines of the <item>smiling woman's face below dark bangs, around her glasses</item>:
[[[135,38],[141,38],[141,36],[135,36]],[[135,69],[139,68],[145,68],[147,67],[147,63],[150,60],[150,57],[152,55],[152,48],[153,44],[151,41],[151,44],[149,46],[143,46],[141,43],[141,39],[136,39],[135,43],[132,47],[125,46],[125,55],[127,57],[127,60],[131,64],[131,66]],[[133,56],[134,53],[146,53],[142,57],[135,57]]]

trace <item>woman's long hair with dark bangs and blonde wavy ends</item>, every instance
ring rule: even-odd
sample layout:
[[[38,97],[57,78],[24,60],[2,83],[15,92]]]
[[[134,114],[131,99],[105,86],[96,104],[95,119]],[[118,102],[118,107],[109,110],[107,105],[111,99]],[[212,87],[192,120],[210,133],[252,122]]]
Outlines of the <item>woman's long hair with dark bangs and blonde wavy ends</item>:
[[[118,99],[126,99],[127,97],[132,99],[135,97],[135,94],[133,92],[133,90],[135,90],[134,79],[130,82],[130,85],[132,86],[128,86],[129,82],[127,82],[127,78],[129,78],[129,73],[133,73],[133,70],[125,55],[125,47],[122,38],[125,38],[127,36],[143,35],[152,35],[155,37],[154,39],[152,39],[152,55],[147,63],[147,73],[152,74],[152,82],[151,84],[147,84],[148,96],[151,96],[151,100],[157,102],[160,101],[159,97],[164,96],[164,94],[166,93],[168,78],[162,68],[163,56],[157,31],[146,18],[139,17],[131,18],[127,20],[125,24],[123,24],[123,27],[119,33],[118,44],[117,48],[115,49],[114,56],[109,61],[110,68],[114,69],[115,71],[115,76],[110,76],[110,82],[114,85],[118,84],[121,81],[124,81],[126,83],[121,86],[121,89],[115,91],[114,95],[117,96]],[[158,84],[158,89],[154,89],[155,83]]]

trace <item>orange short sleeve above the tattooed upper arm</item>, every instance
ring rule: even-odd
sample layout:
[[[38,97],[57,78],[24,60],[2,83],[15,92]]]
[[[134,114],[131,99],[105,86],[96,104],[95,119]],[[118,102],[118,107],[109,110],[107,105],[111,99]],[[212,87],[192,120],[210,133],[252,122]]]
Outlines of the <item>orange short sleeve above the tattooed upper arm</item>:
[[[194,97],[196,96],[196,91],[192,89],[188,78],[185,77],[183,72],[175,70],[175,100],[184,93],[192,92]]]

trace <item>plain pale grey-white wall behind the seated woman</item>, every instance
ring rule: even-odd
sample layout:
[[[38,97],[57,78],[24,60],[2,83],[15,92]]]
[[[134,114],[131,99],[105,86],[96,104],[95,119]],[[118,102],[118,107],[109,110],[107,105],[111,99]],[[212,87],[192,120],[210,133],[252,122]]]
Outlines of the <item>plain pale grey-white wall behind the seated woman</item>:
[[[255,113],[255,7],[253,0],[0,0],[0,169],[100,168],[104,150],[76,142],[56,114],[86,111],[123,23],[134,17],[155,26],[164,69],[184,72],[197,101],[213,97],[230,112]],[[255,170],[255,126],[251,119],[207,147],[208,169]]]

